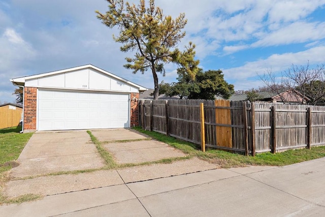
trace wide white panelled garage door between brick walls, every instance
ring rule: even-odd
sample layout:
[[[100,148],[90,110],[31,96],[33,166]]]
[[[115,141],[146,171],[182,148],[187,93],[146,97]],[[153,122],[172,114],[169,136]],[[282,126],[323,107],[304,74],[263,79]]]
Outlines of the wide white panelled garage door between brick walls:
[[[38,130],[129,127],[129,95],[39,90]]]

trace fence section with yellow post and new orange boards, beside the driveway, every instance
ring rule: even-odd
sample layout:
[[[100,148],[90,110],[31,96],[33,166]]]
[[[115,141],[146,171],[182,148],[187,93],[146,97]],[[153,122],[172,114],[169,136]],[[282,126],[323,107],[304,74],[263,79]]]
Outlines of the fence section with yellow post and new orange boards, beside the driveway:
[[[204,144],[203,148],[207,146],[249,153],[251,139],[247,132],[246,102],[140,100],[139,104],[140,126],[145,130]],[[203,104],[201,109],[200,104]]]

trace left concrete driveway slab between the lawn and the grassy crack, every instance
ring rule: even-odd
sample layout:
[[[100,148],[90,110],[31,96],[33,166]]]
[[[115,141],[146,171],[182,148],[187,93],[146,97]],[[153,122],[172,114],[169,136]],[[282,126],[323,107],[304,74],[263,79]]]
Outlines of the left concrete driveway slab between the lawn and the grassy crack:
[[[94,169],[103,160],[86,131],[37,132],[27,142],[11,171],[14,177]]]

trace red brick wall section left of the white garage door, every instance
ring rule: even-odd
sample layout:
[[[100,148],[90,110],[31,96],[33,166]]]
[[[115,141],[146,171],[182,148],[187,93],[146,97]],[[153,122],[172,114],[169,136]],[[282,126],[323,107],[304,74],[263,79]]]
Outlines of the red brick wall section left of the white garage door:
[[[36,131],[37,88],[25,87],[24,92],[24,130]]]

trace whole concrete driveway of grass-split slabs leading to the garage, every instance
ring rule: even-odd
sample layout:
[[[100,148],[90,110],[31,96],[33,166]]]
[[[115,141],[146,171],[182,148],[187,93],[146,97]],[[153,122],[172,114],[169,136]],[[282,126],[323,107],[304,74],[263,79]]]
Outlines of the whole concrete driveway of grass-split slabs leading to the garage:
[[[132,129],[91,130],[114,154],[117,163],[142,163],[186,156],[183,152],[155,140],[148,140]],[[134,141],[132,141],[134,140]],[[102,168],[105,166],[86,131],[35,133],[18,158],[20,165],[13,168],[3,188],[10,198],[26,194],[43,196],[104,188],[122,183],[188,174],[218,168],[197,158],[171,164],[150,164],[117,170],[98,170],[87,173],[47,176],[60,171]],[[43,176],[42,176],[43,175]],[[37,176],[32,178],[29,177]]]

